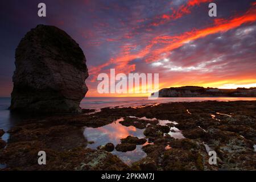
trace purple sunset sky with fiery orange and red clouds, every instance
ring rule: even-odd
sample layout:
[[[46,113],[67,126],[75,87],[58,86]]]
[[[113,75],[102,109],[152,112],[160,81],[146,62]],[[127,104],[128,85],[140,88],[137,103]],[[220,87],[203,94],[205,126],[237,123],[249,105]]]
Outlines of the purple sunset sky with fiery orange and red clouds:
[[[46,17],[38,3],[46,3]],[[217,5],[209,17],[208,5]],[[100,73],[159,73],[159,87],[256,86],[256,1],[23,0],[0,2],[0,97],[13,88],[15,48],[38,24],[67,32],[84,51],[86,97],[99,94]],[[144,96],[133,94],[133,96]]]

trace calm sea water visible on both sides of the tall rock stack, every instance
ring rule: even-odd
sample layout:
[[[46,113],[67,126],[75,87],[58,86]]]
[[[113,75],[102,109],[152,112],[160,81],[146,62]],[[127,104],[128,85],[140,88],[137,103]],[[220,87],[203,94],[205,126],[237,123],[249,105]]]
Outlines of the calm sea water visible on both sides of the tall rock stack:
[[[165,102],[192,102],[192,101],[253,101],[256,97],[173,97],[158,98],[158,100],[148,100],[147,97],[85,97],[81,101],[81,107],[85,109],[100,109],[103,107],[128,107],[141,106],[147,104],[161,104]],[[0,97],[0,129],[5,131],[20,122],[20,118],[10,114],[8,107],[11,98]]]

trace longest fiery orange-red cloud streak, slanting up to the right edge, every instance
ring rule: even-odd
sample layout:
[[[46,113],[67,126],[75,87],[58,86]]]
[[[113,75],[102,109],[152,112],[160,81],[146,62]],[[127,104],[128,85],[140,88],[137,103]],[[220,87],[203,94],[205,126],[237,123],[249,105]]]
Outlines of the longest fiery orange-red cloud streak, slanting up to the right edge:
[[[198,1],[192,1],[191,3],[198,3]],[[167,54],[170,53],[170,51],[183,46],[187,42],[204,38],[205,36],[216,34],[218,32],[226,32],[228,30],[241,26],[243,23],[251,23],[255,20],[256,9],[253,7],[241,16],[237,16],[232,19],[217,19],[214,22],[213,26],[208,28],[185,32],[177,36],[156,36],[150,41],[150,44],[148,44],[138,53],[130,53],[131,47],[125,46],[122,48],[121,52],[119,53],[119,56],[113,57],[105,64],[91,68],[90,74],[97,74],[102,68],[110,64],[115,64],[115,69],[118,72],[129,73],[135,70],[134,64],[128,65],[131,60],[146,58],[146,62],[157,61],[159,59],[164,58],[161,57],[163,53],[166,53],[164,56],[167,56]],[[163,43],[164,46],[152,49],[153,46],[160,43]]]

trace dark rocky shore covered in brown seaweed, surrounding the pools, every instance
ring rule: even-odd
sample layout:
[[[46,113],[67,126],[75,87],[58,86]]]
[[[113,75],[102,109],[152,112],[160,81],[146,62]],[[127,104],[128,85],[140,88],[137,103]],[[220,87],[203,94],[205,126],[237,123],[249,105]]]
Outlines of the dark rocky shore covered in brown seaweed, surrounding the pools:
[[[255,170],[255,110],[256,101],[171,102],[26,119],[7,131],[0,164],[6,164],[2,170]],[[116,146],[89,148],[93,141],[84,137],[84,127],[102,127],[119,118],[123,126],[143,129],[144,138],[127,135]],[[183,138],[172,137],[177,130]],[[112,154],[114,147],[126,152],[138,145],[147,155],[131,165]],[[38,164],[42,150],[46,165]],[[216,165],[208,163],[209,150],[217,154]]]

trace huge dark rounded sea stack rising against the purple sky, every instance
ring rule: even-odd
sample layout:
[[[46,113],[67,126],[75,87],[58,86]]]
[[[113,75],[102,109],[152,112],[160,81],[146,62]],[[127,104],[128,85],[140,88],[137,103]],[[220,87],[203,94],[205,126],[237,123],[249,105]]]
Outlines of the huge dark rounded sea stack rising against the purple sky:
[[[88,91],[86,59],[79,44],[54,26],[27,32],[15,52],[11,110],[77,113]]]

